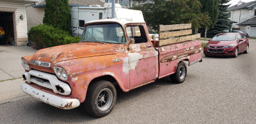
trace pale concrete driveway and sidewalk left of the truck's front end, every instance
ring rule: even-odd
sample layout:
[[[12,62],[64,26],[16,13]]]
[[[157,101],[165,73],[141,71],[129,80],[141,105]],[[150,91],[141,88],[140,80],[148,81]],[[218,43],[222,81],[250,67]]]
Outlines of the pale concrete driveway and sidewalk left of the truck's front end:
[[[0,104],[28,97],[20,89],[24,72],[20,58],[35,52],[27,46],[0,45]]]

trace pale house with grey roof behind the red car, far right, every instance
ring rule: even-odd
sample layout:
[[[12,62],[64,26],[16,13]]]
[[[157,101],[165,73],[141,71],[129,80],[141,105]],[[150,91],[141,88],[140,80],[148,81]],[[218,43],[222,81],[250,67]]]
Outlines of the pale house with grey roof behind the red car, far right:
[[[233,30],[241,30],[249,36],[256,36],[256,1],[243,3],[239,1],[236,5],[229,7],[230,20]]]

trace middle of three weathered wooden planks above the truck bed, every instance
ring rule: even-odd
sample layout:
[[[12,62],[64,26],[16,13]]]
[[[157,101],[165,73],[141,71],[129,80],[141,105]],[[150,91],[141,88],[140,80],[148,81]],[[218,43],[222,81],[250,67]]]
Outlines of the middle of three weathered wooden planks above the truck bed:
[[[168,33],[159,33],[159,38],[170,38],[172,36],[182,36],[182,35],[190,35],[192,34],[192,29],[183,30],[183,31],[173,31]]]

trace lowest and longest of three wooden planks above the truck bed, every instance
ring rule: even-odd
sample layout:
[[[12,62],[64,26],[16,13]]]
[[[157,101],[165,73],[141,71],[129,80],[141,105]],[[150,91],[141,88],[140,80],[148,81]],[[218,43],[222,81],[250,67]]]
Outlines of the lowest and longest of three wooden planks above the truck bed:
[[[179,43],[179,42],[186,42],[188,40],[195,40],[195,39],[199,39],[200,36],[201,36],[201,34],[197,34],[197,35],[191,35],[191,36],[182,36],[179,38],[159,40],[159,46],[169,45],[169,44]]]

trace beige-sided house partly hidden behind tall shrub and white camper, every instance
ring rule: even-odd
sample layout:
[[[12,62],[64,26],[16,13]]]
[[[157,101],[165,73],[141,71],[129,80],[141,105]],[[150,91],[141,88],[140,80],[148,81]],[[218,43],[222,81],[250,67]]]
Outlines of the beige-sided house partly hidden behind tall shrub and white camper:
[[[115,0],[116,3],[120,3],[123,6],[130,6],[131,0]],[[100,5],[104,6],[105,3],[111,3],[111,0],[68,0],[70,10],[73,6],[90,6],[90,5]],[[28,31],[33,26],[43,24],[44,19],[44,8],[45,0],[37,4],[31,4],[26,6],[27,18],[28,18]]]

